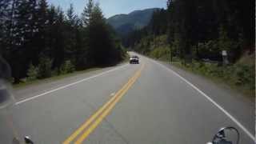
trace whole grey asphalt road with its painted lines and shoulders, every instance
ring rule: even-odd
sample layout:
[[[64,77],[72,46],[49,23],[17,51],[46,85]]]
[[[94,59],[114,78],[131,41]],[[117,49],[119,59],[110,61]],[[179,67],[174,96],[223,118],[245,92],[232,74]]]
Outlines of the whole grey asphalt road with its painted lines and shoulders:
[[[0,118],[0,143],[14,133],[36,144],[198,144],[223,126],[237,127],[241,144],[255,143],[254,102],[139,57],[138,65],[15,90],[9,117]]]

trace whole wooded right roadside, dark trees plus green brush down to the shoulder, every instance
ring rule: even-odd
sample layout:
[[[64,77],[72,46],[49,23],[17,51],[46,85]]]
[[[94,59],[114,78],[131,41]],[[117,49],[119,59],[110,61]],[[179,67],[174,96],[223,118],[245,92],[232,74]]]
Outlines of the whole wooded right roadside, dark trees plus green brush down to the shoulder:
[[[154,11],[150,24],[123,38],[123,45],[254,95],[254,14],[253,0],[168,0],[167,9]]]

